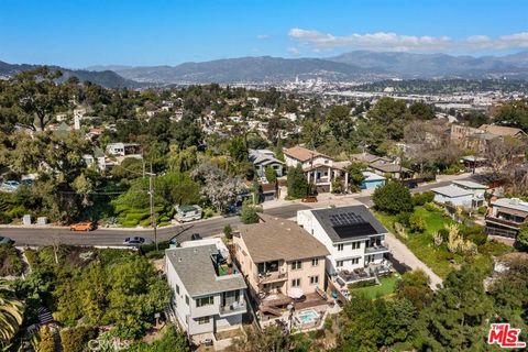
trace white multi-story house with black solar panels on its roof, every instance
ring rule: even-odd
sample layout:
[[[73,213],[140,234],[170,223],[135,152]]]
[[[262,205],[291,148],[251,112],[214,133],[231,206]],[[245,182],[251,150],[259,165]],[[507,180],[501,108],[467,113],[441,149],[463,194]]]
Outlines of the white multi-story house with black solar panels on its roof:
[[[327,274],[340,286],[391,272],[388,231],[365,206],[300,210],[297,222],[330,252]]]

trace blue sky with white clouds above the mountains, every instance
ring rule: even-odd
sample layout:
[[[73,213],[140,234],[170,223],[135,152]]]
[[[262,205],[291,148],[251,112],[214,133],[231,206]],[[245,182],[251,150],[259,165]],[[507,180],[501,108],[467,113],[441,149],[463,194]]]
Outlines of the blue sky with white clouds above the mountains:
[[[0,61],[86,67],[528,50],[526,0],[0,0]]]

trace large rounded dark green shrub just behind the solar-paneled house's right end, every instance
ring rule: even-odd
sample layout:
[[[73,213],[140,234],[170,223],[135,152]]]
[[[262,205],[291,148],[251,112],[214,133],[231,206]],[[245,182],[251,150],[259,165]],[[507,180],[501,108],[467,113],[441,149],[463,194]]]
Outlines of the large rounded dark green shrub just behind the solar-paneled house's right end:
[[[398,182],[377,187],[372,200],[376,209],[388,213],[410,212],[414,208],[409,189]]]

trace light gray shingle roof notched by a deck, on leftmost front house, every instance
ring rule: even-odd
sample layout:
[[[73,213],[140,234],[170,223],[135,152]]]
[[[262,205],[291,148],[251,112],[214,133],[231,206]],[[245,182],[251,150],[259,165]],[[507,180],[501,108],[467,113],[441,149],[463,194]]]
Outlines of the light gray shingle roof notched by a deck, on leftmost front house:
[[[165,255],[168,257],[191,297],[248,287],[238,268],[238,274],[217,276],[211,260],[211,254],[213,253],[218,253],[215,244],[169,249],[165,251]]]

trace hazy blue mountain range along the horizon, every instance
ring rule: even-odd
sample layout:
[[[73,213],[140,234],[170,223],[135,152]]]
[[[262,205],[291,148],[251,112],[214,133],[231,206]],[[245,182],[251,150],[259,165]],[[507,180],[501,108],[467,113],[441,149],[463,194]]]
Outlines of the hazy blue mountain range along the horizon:
[[[31,69],[34,65],[0,62],[0,76]],[[355,51],[327,58],[282,58],[271,56],[224,58],[177,66],[90,66],[64,68],[66,77],[77,76],[106,87],[208,82],[280,82],[322,78],[328,81],[373,81],[382,79],[509,78],[528,79],[528,51],[506,56],[453,56],[399,52]]]

